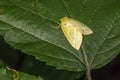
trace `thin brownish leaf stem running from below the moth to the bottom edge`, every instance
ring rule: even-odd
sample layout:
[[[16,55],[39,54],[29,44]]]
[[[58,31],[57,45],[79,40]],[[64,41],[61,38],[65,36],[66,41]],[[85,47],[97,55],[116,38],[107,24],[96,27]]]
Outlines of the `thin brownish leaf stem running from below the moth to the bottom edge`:
[[[84,56],[84,60],[85,60],[85,67],[86,67],[86,78],[85,78],[85,80],[92,80],[90,65],[89,65],[88,58],[87,58],[87,55],[85,54],[85,50],[84,50],[83,46],[82,46],[82,52],[83,52],[83,56]]]

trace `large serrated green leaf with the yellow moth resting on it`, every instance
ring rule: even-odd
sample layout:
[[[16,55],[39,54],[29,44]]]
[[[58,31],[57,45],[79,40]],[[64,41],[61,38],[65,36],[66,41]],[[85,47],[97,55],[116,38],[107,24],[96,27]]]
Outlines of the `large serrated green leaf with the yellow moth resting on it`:
[[[59,69],[96,69],[120,52],[119,5],[119,0],[0,0],[0,34],[12,47]],[[64,16],[93,30],[79,51],[53,28]]]

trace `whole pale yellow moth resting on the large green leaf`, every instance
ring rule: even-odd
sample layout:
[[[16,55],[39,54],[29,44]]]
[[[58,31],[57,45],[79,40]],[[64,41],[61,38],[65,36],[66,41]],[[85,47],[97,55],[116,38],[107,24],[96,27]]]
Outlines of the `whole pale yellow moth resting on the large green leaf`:
[[[83,35],[92,34],[93,31],[85,24],[72,18],[63,17],[60,19],[60,26],[68,42],[79,50],[82,44]]]

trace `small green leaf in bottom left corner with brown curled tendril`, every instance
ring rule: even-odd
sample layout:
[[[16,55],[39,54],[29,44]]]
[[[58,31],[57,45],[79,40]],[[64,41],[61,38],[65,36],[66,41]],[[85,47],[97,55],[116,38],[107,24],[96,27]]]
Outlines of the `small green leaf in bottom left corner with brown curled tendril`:
[[[18,72],[18,76],[16,76],[17,72],[12,70],[8,70],[5,68],[0,69],[0,80],[43,80],[41,77],[35,77],[33,75],[29,75],[26,73]],[[15,78],[13,76],[16,76]]]

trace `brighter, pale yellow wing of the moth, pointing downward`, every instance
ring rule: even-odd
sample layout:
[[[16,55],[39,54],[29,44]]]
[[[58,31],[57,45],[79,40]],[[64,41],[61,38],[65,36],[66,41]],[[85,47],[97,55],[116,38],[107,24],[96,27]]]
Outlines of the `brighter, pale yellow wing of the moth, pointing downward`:
[[[69,25],[69,26],[61,26],[62,31],[67,38],[68,42],[77,50],[79,50],[82,43],[82,33],[78,28]]]

